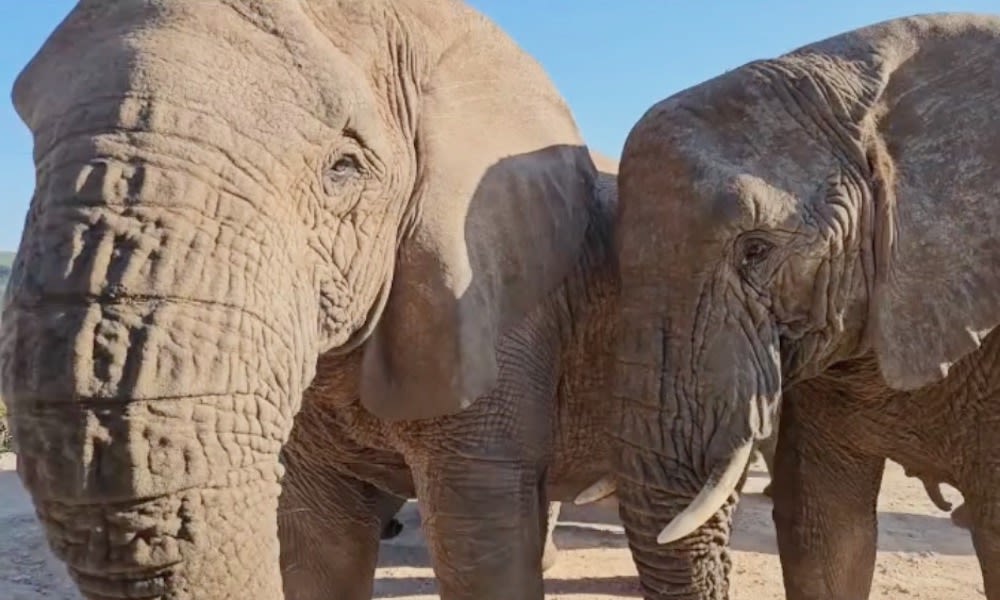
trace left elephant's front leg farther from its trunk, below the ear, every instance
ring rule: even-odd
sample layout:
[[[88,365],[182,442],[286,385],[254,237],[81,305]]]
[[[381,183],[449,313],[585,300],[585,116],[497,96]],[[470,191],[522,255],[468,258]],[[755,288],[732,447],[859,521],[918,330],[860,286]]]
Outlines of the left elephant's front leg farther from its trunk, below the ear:
[[[411,464],[440,597],[542,600],[539,474],[453,456]]]

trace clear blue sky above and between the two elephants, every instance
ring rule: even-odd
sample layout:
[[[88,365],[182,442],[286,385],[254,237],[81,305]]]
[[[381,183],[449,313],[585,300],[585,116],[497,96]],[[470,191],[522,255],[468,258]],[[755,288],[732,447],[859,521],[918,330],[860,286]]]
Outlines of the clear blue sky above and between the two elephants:
[[[202,0],[193,0],[202,1]],[[653,102],[750,60],[915,13],[1000,13],[1000,0],[472,0],[534,55],[590,145],[617,156]],[[0,0],[0,250],[34,187],[31,138],[9,100],[21,67],[75,4]]]

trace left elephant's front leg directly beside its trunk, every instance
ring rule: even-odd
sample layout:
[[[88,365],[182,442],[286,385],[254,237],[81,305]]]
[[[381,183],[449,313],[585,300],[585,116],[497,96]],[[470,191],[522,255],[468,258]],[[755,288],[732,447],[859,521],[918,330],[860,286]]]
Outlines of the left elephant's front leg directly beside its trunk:
[[[278,502],[285,599],[369,600],[380,533],[403,500],[331,468],[285,464]]]

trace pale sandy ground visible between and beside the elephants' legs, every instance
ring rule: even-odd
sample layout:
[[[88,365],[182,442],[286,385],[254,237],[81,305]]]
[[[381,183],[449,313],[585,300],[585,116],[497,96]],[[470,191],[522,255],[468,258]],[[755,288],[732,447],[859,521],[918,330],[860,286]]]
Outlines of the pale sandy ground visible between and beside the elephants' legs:
[[[13,472],[14,456],[0,456],[0,599],[77,600],[62,565],[45,545],[30,502]],[[983,598],[979,565],[966,531],[934,508],[916,479],[890,464],[879,501],[879,554],[872,599],[970,600]],[[736,517],[733,600],[782,598],[767,483],[755,464]],[[957,492],[947,498],[960,502]],[[375,598],[437,598],[434,575],[411,503],[406,529],[383,544]],[[558,564],[546,573],[547,598],[639,598],[613,504],[565,506],[556,528]]]

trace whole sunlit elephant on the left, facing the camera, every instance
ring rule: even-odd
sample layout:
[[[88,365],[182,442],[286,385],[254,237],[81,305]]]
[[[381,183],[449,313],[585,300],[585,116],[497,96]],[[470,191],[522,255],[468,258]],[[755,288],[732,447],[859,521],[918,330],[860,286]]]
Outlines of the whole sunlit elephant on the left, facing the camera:
[[[13,97],[2,394],[85,596],[369,598],[395,494],[443,598],[542,598],[617,280],[536,61],[452,0],[82,0]]]

